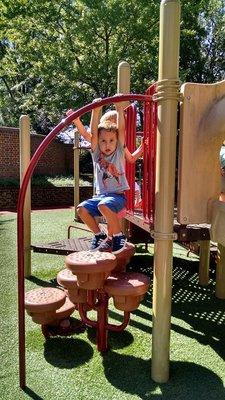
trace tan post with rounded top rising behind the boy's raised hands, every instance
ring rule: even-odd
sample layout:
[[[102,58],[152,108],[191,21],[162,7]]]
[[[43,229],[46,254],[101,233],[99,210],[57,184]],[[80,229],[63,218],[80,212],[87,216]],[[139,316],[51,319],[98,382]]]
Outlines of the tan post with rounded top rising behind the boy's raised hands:
[[[130,93],[130,64],[126,61],[121,61],[117,69],[117,93]],[[126,106],[129,106],[129,101]],[[128,222],[125,218],[121,220],[121,229],[128,234]]]

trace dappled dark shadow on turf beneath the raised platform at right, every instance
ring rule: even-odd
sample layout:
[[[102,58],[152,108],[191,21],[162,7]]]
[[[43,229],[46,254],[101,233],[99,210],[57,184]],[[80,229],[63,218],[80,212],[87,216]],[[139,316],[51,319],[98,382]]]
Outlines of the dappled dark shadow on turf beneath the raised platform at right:
[[[134,256],[129,264],[130,271],[139,271],[152,280],[153,257],[150,254]],[[172,317],[181,320],[181,324],[171,324],[171,329],[199,343],[210,346],[225,360],[225,301],[215,297],[215,268],[210,272],[207,287],[198,283],[198,260],[187,260],[174,257],[172,287]],[[152,289],[146,294],[143,309],[133,311],[133,315],[142,320],[151,320],[148,309],[152,308]],[[149,332],[147,325],[132,320],[130,325]],[[114,316],[115,318],[115,316]],[[190,328],[182,325],[188,323]]]

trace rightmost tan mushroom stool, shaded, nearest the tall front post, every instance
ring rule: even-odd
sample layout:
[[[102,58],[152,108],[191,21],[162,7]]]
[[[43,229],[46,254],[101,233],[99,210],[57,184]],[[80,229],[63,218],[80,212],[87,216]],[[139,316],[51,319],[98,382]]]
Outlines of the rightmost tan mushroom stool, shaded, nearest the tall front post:
[[[113,297],[118,310],[136,310],[149,288],[149,278],[138,272],[120,272],[110,276],[104,290]]]

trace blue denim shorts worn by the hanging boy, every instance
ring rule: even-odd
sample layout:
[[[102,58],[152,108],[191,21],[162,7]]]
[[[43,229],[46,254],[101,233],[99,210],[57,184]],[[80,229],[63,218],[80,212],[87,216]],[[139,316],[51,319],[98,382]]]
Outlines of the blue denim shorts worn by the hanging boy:
[[[92,199],[82,201],[78,207],[85,207],[92,217],[99,217],[102,214],[100,213],[98,206],[101,204],[104,204],[111,211],[118,213],[126,207],[126,197],[121,193],[100,194],[92,197]]]

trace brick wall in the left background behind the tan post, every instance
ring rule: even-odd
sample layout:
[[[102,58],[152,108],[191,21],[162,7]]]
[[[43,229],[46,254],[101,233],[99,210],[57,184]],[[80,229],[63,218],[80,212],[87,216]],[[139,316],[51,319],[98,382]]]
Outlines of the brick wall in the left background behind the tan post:
[[[31,155],[45,136],[31,134]],[[19,129],[0,127],[0,178],[19,179]],[[53,140],[40,158],[34,175],[73,173],[73,145]]]

